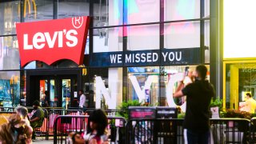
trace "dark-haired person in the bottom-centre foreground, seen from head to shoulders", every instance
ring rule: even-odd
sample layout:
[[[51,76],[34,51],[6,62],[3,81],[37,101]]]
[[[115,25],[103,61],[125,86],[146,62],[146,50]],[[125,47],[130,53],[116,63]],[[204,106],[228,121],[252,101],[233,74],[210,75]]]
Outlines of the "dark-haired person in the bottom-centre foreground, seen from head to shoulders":
[[[90,144],[108,143],[106,135],[107,118],[106,114],[100,109],[94,110],[89,118],[84,139]]]

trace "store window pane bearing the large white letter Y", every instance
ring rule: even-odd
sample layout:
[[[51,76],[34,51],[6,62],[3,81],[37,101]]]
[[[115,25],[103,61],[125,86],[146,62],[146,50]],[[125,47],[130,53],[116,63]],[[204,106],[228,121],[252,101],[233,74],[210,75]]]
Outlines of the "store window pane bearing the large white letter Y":
[[[128,100],[138,100],[146,106],[158,106],[159,66],[128,67]]]

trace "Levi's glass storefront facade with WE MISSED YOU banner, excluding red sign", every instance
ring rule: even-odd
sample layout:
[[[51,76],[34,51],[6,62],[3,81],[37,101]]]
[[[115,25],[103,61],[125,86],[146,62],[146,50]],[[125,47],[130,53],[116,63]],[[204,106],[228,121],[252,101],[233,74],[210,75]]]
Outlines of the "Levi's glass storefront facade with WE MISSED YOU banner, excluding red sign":
[[[182,105],[172,93],[187,67],[217,67],[210,48],[210,0],[4,1],[0,11],[2,106],[30,106],[45,90],[50,106],[77,106],[80,89],[90,107],[115,108],[128,100]],[[90,16],[82,65],[59,60],[22,67],[15,23],[78,16]],[[217,75],[207,75],[216,87]]]

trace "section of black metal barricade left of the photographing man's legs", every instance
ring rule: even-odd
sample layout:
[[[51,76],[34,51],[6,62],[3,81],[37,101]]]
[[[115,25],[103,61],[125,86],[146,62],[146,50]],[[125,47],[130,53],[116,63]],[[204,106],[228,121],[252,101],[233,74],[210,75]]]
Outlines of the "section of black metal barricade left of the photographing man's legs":
[[[184,143],[183,119],[132,119],[126,125],[126,143]]]

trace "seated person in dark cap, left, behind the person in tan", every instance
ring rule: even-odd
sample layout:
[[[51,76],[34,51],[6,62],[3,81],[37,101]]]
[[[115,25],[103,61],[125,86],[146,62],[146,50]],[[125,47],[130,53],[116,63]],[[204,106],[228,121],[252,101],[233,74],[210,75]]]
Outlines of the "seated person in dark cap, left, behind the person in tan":
[[[41,127],[44,119],[44,111],[40,107],[38,100],[33,102],[33,111],[30,113],[30,126],[33,128],[32,139],[35,139],[34,128]]]

